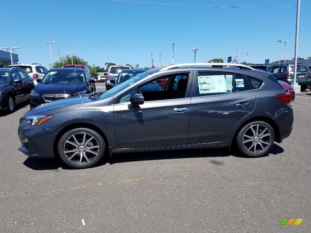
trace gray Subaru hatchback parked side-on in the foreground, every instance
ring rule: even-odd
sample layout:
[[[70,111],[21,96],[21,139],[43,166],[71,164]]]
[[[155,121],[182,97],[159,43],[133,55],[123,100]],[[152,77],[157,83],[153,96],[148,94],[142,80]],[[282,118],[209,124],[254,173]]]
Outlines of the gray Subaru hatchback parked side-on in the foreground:
[[[144,86],[160,83],[162,89]],[[292,131],[291,94],[269,72],[240,64],[155,68],[106,92],[45,103],[20,119],[19,150],[87,168],[114,153],[236,145],[269,153]]]

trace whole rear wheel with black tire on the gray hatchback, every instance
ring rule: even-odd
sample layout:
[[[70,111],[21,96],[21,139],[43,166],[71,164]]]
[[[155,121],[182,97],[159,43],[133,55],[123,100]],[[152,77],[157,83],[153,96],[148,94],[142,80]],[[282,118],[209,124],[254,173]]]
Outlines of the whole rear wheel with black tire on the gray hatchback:
[[[269,153],[274,143],[274,130],[264,121],[245,125],[236,137],[239,151],[246,157],[260,157]]]

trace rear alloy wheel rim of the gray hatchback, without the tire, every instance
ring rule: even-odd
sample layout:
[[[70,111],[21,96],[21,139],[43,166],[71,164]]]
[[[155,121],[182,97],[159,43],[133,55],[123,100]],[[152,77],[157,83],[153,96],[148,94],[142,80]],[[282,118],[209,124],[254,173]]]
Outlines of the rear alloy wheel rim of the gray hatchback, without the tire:
[[[243,146],[252,154],[262,153],[271,143],[271,132],[264,125],[252,125],[243,135]]]

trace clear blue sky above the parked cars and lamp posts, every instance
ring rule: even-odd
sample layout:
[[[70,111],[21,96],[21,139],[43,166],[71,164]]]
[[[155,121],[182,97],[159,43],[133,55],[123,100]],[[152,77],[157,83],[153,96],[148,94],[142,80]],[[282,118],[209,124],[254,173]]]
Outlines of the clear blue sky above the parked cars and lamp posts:
[[[311,1],[301,0],[299,57],[311,56]],[[207,62],[236,56],[264,63],[295,56],[296,0],[0,0],[0,47],[20,47],[19,63],[53,62],[75,52],[105,67]],[[218,6],[218,7],[215,7]],[[234,7],[235,6],[235,7]],[[149,63],[149,64],[148,64]]]

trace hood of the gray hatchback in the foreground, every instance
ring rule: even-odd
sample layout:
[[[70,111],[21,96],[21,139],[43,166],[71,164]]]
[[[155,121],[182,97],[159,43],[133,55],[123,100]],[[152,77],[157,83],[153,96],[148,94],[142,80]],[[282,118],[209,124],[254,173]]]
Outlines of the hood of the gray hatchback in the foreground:
[[[59,100],[54,100],[52,102],[44,103],[37,107],[30,109],[28,112],[24,114],[25,116],[33,116],[33,115],[44,115],[44,114],[54,114],[57,112],[63,112],[70,109],[74,109],[76,107],[81,106],[82,104],[92,101],[89,100],[89,96],[91,94],[69,97]]]

